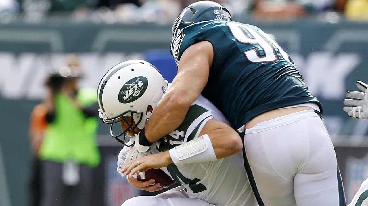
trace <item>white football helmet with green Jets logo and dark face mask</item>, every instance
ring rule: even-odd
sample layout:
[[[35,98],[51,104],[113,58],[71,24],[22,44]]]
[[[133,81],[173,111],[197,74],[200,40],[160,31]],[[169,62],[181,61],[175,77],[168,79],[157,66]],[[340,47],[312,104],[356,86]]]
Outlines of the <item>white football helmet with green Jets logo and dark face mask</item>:
[[[111,124],[110,135],[126,145],[117,137],[129,129],[144,128],[167,85],[156,67],[144,60],[121,62],[107,71],[100,81],[97,95],[99,116],[104,123]],[[120,121],[125,121],[129,127],[114,135],[113,124]]]

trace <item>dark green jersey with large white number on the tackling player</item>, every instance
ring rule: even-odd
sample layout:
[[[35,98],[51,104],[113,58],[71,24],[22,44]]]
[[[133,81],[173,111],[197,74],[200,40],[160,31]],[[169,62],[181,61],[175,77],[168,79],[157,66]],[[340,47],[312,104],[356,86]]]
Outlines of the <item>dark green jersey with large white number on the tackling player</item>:
[[[183,28],[171,43],[177,64],[185,49],[200,41],[213,46],[213,62],[202,95],[238,129],[257,115],[314,103],[293,60],[254,25],[227,20],[202,21]]]

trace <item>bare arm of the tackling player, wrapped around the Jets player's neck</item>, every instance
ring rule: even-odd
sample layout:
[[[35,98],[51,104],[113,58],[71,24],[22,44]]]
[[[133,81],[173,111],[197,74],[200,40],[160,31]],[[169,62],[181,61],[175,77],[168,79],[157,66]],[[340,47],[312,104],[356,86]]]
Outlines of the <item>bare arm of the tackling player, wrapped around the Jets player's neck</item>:
[[[212,59],[210,42],[198,42],[184,51],[178,74],[145,126],[149,142],[156,142],[183,123],[190,105],[207,84]]]

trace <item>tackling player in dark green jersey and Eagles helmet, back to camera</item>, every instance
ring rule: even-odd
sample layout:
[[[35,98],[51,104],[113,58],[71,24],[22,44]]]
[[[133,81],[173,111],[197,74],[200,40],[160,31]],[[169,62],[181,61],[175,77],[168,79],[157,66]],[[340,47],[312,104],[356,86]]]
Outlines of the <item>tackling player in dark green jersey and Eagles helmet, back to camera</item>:
[[[178,73],[139,133],[141,145],[175,130],[202,94],[243,138],[244,165],[260,206],[346,205],[322,106],[273,38],[231,21],[212,1],[185,8],[172,35]]]

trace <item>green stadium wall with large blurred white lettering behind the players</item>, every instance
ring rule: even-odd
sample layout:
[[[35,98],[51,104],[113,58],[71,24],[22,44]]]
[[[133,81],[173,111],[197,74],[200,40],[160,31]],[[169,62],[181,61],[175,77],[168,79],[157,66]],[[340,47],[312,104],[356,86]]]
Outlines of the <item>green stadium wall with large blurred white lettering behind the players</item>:
[[[342,111],[342,99],[347,90],[356,89],[356,80],[368,81],[368,24],[309,20],[247,23],[275,36],[302,72],[309,89],[322,102],[347,199],[351,199],[354,189],[368,176],[368,143],[360,137],[367,135],[368,121],[348,118]],[[1,24],[0,205],[28,204],[29,115],[45,95],[43,82],[52,68],[64,63],[68,54],[77,53],[85,73],[81,86],[97,88],[110,67],[124,60],[143,58],[172,79],[176,67],[170,58],[170,42],[171,25],[67,21]],[[99,184],[106,183],[101,188],[107,191],[107,182],[113,184],[111,179],[117,179],[111,176],[111,168],[115,169],[113,157],[118,154],[118,147],[104,143],[109,138],[106,126],[100,126],[99,134],[105,161],[99,170],[104,175],[96,177],[100,178]],[[119,191],[118,185],[113,186]],[[122,201],[108,195],[96,199],[99,205]]]

